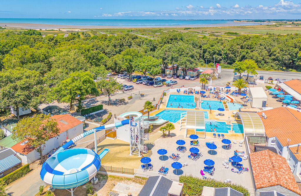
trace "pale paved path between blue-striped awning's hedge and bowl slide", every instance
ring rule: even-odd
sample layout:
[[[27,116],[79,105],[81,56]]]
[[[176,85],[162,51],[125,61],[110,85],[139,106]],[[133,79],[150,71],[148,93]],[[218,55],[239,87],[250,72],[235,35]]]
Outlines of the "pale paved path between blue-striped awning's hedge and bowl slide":
[[[10,196],[33,196],[39,192],[39,187],[41,185],[46,186],[46,184],[40,178],[41,165],[39,165],[40,160],[29,165],[32,169],[31,172],[23,176],[22,178],[12,182],[6,188],[8,189],[6,193]]]

